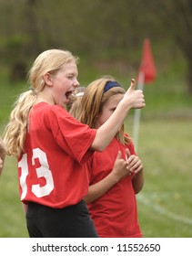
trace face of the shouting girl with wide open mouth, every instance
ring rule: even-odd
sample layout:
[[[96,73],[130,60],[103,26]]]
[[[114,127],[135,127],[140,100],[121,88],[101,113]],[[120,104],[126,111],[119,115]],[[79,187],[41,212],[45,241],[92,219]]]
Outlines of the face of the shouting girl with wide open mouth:
[[[79,86],[76,62],[67,63],[56,75],[50,75],[48,86],[52,87],[51,97],[55,104],[64,106],[70,95]]]

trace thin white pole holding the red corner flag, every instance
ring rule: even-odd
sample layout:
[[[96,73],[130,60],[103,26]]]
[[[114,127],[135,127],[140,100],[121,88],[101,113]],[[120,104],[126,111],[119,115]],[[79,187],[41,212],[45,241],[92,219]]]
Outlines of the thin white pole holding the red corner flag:
[[[145,82],[145,74],[144,72],[140,71],[138,74],[138,84],[137,90],[144,90],[144,82]],[[138,132],[139,132],[139,125],[140,125],[140,116],[141,116],[141,109],[136,109],[134,112],[134,127],[133,127],[133,140],[136,153],[138,152]]]

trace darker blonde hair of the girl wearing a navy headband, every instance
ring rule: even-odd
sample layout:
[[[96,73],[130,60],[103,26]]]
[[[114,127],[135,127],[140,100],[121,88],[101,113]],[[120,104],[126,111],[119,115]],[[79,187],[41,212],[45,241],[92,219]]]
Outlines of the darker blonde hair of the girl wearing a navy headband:
[[[126,91],[122,87],[113,87],[110,90],[104,92],[106,83],[108,81],[116,81],[111,76],[105,76],[98,80],[91,82],[82,97],[81,100],[81,109],[78,120],[81,123],[86,123],[91,128],[96,128],[96,120],[99,113],[102,112],[104,105],[109,100],[110,97],[116,94],[125,94]],[[130,144],[132,141],[124,133],[124,124],[118,133],[116,133],[116,138],[122,144]]]

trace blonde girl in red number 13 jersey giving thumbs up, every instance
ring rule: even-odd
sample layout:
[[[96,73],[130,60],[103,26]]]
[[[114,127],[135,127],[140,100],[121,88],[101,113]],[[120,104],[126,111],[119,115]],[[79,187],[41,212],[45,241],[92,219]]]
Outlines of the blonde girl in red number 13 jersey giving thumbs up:
[[[145,106],[132,83],[99,129],[79,123],[64,106],[79,86],[78,59],[62,49],[41,53],[29,70],[5,129],[6,154],[18,160],[21,201],[30,237],[97,237],[83,197],[86,162],[110,144],[130,108]]]

